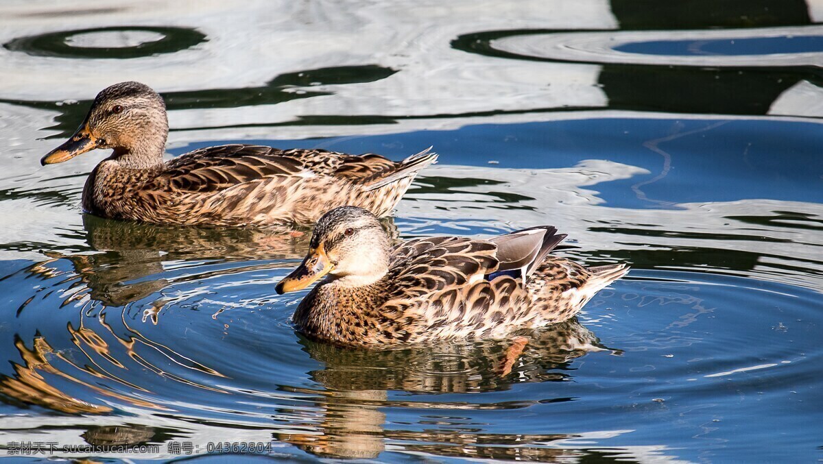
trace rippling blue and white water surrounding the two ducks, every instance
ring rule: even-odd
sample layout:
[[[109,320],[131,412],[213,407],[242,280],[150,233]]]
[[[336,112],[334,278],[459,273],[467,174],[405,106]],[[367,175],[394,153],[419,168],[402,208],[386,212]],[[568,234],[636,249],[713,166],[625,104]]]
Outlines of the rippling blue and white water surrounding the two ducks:
[[[785,0],[7,2],[0,450],[821,459],[821,18]],[[165,96],[171,155],[433,145],[387,223],[402,237],[552,224],[566,256],[633,270],[516,360],[509,341],[307,341],[290,322],[304,294],[274,293],[306,231],[83,216],[103,154],[40,167],[129,79]]]

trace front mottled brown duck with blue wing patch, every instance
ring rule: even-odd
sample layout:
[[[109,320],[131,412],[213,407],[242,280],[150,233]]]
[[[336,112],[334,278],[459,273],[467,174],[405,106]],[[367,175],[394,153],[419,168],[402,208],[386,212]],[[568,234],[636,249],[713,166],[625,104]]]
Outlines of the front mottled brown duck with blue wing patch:
[[[506,339],[573,318],[625,276],[625,263],[584,267],[551,251],[548,225],[490,239],[392,244],[370,211],[342,206],[319,219],[303,262],[275,287],[303,290],[292,320],[310,339],[382,348],[455,338]]]

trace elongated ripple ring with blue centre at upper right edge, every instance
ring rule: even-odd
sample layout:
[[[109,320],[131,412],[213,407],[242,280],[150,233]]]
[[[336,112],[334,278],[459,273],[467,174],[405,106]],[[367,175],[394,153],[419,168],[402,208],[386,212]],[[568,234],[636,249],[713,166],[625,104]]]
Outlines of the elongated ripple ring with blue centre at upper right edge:
[[[473,43],[472,43],[473,39]],[[689,67],[809,66],[823,57],[820,26],[740,30],[495,31],[453,42],[509,58]]]

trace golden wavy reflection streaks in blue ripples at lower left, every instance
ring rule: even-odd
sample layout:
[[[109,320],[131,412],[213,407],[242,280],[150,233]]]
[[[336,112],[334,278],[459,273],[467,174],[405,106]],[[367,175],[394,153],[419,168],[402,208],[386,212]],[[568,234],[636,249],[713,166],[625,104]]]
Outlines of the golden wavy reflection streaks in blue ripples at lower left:
[[[121,314],[122,317],[122,314]],[[97,323],[99,327],[87,327],[84,322]],[[124,319],[121,322],[125,323]],[[22,362],[9,360],[13,374],[0,374],[0,401],[34,404],[67,414],[105,414],[112,411],[105,404],[94,404],[109,397],[121,404],[167,411],[168,408],[143,399],[153,392],[134,383],[134,374],[157,374],[163,378],[184,383],[191,387],[212,392],[224,392],[220,388],[196,383],[170,372],[170,366],[192,369],[209,376],[224,378],[214,369],[189,359],[186,355],[152,341],[132,327],[125,326],[128,335],[100,318],[85,318],[80,327],[67,322],[70,350],[55,350],[43,335],[37,335],[26,343],[15,334],[14,346]],[[121,327],[122,328],[122,327]],[[27,345],[30,345],[29,348]],[[152,364],[145,356],[151,350],[163,354],[164,365]],[[142,374],[141,374],[142,373]],[[88,400],[85,397],[91,394]]]

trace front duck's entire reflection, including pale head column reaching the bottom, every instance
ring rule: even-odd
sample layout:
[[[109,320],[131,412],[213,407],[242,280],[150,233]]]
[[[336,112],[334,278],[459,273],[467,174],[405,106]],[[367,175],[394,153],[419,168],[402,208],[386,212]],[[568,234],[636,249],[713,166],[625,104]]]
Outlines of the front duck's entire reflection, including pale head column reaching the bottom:
[[[309,373],[324,387],[311,392],[324,397],[317,405],[322,411],[320,424],[316,417],[307,424],[320,433],[276,434],[276,438],[319,456],[349,458],[378,457],[387,443],[392,443],[407,452],[440,456],[556,461],[568,451],[546,448],[546,443],[573,436],[479,434],[479,429],[451,415],[432,417],[431,427],[423,431],[390,430],[385,427],[383,412],[386,406],[459,411],[516,409],[530,404],[398,401],[389,399],[388,392],[489,392],[507,389],[513,383],[563,381],[570,378],[573,360],[590,351],[608,350],[576,319],[513,341],[450,341],[385,351],[353,350],[308,340],[301,343],[314,360],[324,364],[323,369]]]

